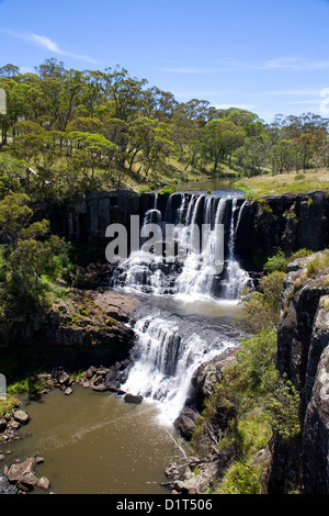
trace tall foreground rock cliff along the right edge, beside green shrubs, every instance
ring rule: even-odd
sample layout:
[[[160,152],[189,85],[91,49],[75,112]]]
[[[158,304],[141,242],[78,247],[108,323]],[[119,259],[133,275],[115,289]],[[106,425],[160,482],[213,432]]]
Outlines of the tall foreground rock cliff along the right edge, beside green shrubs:
[[[321,254],[318,254],[321,256]],[[329,269],[309,276],[309,258],[290,265],[284,280],[276,367],[300,396],[300,440],[273,436],[264,493],[329,494]]]

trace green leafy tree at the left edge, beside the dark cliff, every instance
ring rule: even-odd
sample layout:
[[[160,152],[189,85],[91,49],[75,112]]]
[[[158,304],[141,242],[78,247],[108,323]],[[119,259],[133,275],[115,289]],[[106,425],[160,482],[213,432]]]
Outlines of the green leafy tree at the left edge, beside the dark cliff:
[[[0,201],[0,226],[7,242],[0,261],[2,310],[44,303],[53,283],[70,268],[68,245],[49,235],[47,221],[32,222],[29,202],[23,193],[10,193]]]

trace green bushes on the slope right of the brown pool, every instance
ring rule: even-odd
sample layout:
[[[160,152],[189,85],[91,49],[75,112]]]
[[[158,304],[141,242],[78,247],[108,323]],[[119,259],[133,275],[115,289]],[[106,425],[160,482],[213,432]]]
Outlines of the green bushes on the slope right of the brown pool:
[[[198,452],[225,453],[230,463],[216,494],[257,494],[264,464],[254,453],[266,447],[275,433],[283,440],[298,437],[299,396],[275,368],[276,333],[264,329],[241,341],[236,361],[222,371],[213,394],[196,420],[192,444]],[[212,422],[227,419],[227,430],[214,440]]]

